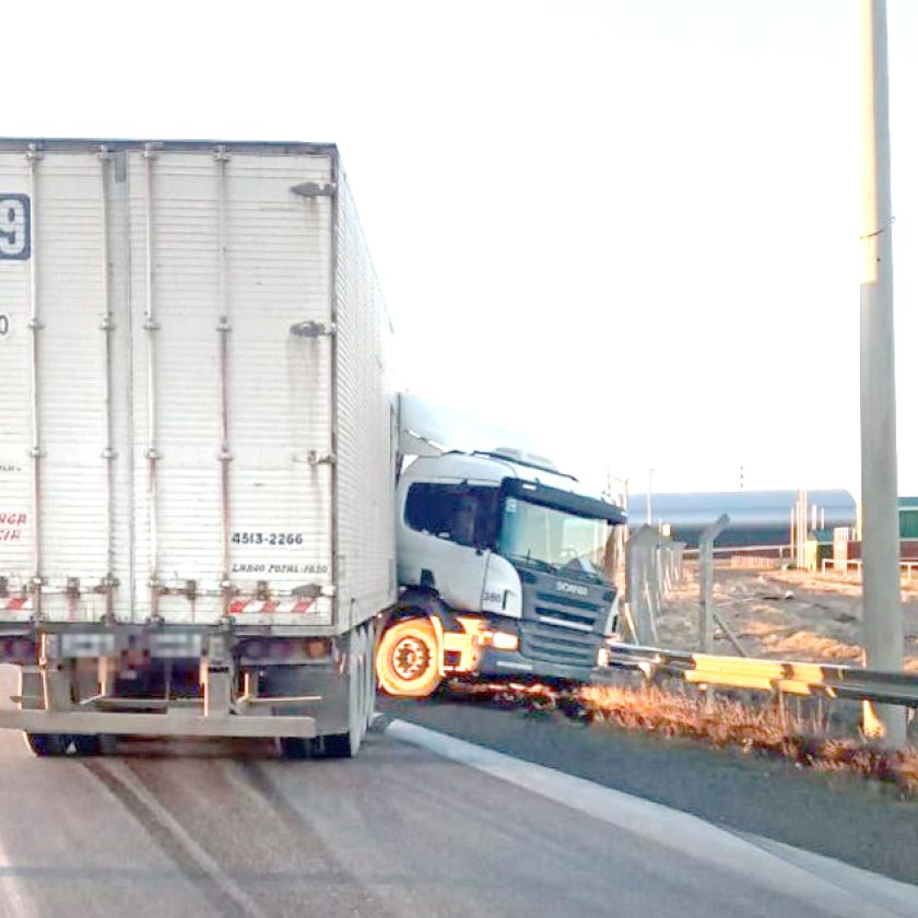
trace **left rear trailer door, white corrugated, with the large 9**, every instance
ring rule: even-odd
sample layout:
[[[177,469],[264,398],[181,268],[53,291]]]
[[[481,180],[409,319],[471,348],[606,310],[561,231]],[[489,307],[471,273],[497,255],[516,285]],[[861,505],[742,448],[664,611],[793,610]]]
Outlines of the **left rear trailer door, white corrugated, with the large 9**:
[[[123,323],[106,321],[117,299],[108,260],[108,163],[96,155],[0,153],[0,597],[5,620],[19,607],[51,619],[98,619],[115,602],[114,580],[129,582],[129,507],[114,455],[128,446],[128,367]],[[27,220],[17,221],[20,201]],[[27,257],[16,259],[16,245]],[[109,252],[109,247],[111,252]],[[23,252],[20,251],[20,255]],[[110,480],[109,480],[110,475]],[[117,506],[117,510],[116,510]],[[109,516],[110,515],[110,516]],[[40,578],[40,582],[36,582]]]

